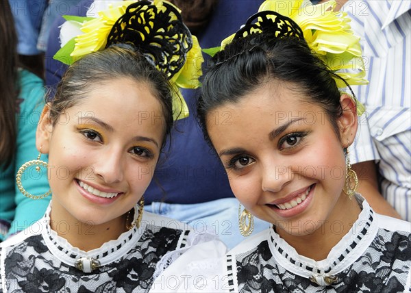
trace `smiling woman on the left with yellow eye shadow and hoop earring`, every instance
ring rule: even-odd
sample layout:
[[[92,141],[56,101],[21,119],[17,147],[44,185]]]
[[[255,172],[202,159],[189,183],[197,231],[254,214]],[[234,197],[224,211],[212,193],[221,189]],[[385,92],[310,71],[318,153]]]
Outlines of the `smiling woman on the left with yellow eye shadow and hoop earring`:
[[[161,42],[171,42],[166,33],[173,30],[180,63],[167,65],[170,47],[162,55],[138,38],[123,44],[109,35],[107,48],[69,67],[40,117],[39,158],[17,177],[24,195],[38,199],[25,190],[22,174],[29,166],[47,166],[52,201],[42,219],[1,243],[0,292],[148,292],[155,276],[190,246],[214,240],[182,222],[143,213],[143,194],[173,116],[184,110],[173,77],[192,42],[171,4],[127,5],[119,23],[150,10],[151,24],[158,22],[164,33]],[[127,25],[119,27],[141,29],[141,23]],[[49,155],[48,165],[41,154]]]

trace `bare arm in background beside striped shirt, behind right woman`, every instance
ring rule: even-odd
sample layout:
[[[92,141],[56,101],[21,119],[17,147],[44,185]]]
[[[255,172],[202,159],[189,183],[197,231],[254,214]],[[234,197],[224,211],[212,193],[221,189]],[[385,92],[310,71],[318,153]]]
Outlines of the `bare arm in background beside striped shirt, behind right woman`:
[[[366,198],[378,214],[401,218],[394,207],[388,203],[378,190],[377,165],[374,161],[353,164],[358,176],[358,192]]]

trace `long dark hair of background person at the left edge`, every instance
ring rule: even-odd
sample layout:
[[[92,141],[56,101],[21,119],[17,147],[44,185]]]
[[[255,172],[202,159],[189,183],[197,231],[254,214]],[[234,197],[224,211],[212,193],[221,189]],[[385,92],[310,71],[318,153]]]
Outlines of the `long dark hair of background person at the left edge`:
[[[0,164],[6,168],[16,151],[17,34],[9,1],[0,1]]]

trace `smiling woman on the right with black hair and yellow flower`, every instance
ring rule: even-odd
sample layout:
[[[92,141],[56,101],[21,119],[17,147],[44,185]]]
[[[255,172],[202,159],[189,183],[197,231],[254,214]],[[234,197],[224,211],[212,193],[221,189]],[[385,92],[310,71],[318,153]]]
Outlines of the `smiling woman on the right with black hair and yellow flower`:
[[[271,227],[220,259],[183,256],[165,278],[185,266],[210,276],[203,292],[410,290],[410,223],[376,214],[356,193],[348,149],[358,107],[342,88],[363,81],[332,66],[355,58],[358,38],[334,6],[265,1],[210,49],[199,120],[245,207],[242,232],[253,216]],[[201,292],[196,285],[187,292]]]

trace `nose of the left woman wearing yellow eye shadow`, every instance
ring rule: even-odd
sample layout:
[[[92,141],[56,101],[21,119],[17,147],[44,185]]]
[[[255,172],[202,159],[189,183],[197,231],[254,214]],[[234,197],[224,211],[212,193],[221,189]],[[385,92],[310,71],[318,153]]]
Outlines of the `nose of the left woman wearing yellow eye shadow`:
[[[95,175],[105,183],[116,183],[124,178],[124,155],[120,149],[108,148],[97,157]]]

